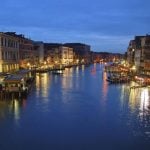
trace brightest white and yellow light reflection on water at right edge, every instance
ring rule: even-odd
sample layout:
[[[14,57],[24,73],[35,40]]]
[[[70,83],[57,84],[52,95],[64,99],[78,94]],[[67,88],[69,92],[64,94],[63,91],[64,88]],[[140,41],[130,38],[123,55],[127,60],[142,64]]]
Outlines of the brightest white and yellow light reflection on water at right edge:
[[[130,120],[133,124],[134,135],[150,137],[150,90],[148,88],[131,89],[129,104],[132,115],[136,117],[136,124],[134,120]]]

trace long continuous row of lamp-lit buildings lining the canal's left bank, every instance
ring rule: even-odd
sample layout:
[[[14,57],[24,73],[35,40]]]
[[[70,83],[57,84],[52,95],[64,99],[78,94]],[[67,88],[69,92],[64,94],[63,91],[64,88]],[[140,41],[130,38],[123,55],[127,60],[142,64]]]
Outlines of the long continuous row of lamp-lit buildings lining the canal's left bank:
[[[87,64],[91,60],[90,46],[86,44],[35,42],[16,32],[0,32],[0,72]]]

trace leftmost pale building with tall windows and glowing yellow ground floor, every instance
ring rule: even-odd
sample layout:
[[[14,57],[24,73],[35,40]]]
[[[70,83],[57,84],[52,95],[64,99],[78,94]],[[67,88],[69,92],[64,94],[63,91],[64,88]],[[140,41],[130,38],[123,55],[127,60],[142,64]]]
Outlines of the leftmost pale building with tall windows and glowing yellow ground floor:
[[[19,40],[17,37],[0,32],[0,72],[19,69]]]

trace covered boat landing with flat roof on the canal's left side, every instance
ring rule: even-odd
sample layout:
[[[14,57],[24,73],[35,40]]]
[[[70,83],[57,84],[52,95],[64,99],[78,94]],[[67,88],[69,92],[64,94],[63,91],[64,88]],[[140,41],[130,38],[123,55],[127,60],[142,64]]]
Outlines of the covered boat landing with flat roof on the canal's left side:
[[[29,70],[20,70],[15,74],[4,77],[0,84],[0,99],[20,99],[26,97],[31,89],[34,76]]]

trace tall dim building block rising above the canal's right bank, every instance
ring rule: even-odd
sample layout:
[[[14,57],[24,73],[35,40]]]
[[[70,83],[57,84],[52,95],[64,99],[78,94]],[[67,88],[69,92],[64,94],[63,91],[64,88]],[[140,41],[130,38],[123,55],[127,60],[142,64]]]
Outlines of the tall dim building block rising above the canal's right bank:
[[[127,60],[131,67],[144,74],[150,74],[150,35],[135,36],[127,50]]]

